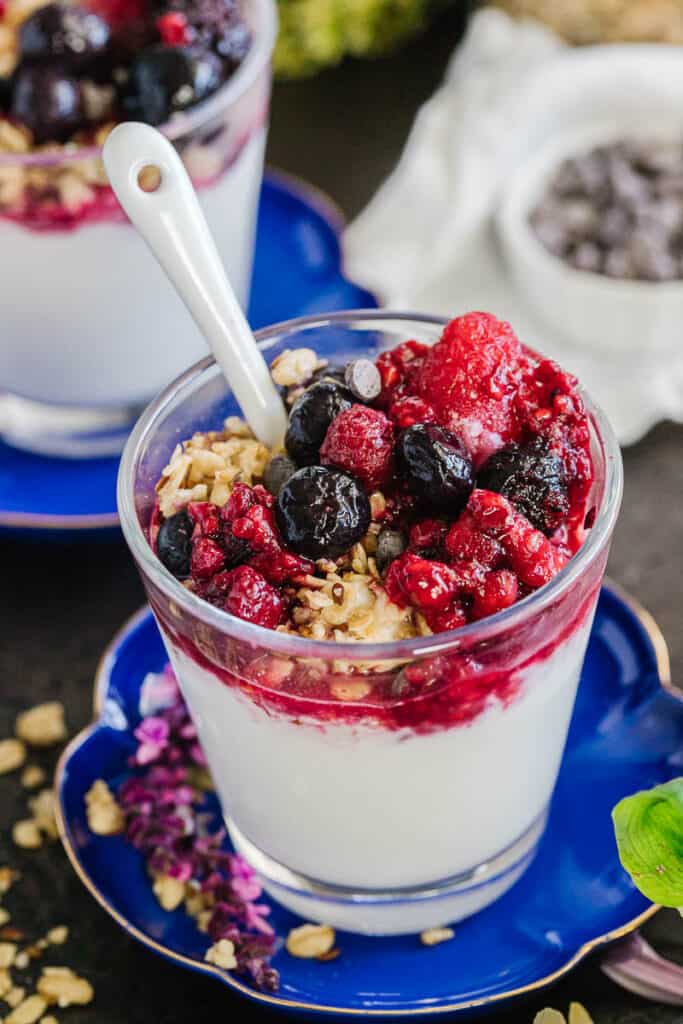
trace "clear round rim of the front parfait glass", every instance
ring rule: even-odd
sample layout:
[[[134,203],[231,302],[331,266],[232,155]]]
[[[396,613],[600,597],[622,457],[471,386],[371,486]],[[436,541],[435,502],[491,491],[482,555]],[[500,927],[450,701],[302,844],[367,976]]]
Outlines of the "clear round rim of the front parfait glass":
[[[382,322],[419,323],[426,326],[444,327],[449,317],[424,313],[381,310],[381,309],[350,309],[332,313],[315,313],[283,321],[255,332],[256,340],[261,349],[267,350],[268,345],[283,335],[292,334],[302,329],[319,329],[330,326],[340,326],[351,322],[365,321],[369,324]],[[165,596],[179,606],[187,615],[200,620],[205,625],[227,635],[234,640],[247,642],[267,648],[278,654],[291,657],[344,662],[386,662],[410,660],[427,654],[438,654],[460,647],[468,641],[488,641],[492,638],[513,630],[523,622],[544,611],[555,600],[560,598],[575,583],[575,581],[593,564],[603,551],[611,536],[622,500],[624,472],[622,455],[616,436],[605,414],[590,395],[581,388],[582,397],[586,402],[598,442],[602,447],[604,460],[604,494],[595,522],[587,539],[575,555],[555,575],[550,583],[533,591],[521,601],[509,608],[498,611],[486,618],[469,623],[456,630],[444,633],[434,633],[429,636],[411,637],[405,640],[388,640],[377,643],[365,641],[311,640],[307,637],[291,633],[280,633],[275,630],[248,623],[238,618],[227,611],[214,607],[187,590],[159,560],[152,550],[150,542],[140,525],[135,509],[135,496],[132,486],[133,468],[137,463],[138,453],[154,431],[159,419],[168,404],[185,388],[188,388],[207,371],[216,367],[213,356],[208,355],[189,367],[183,374],[168,385],[144,410],[128,438],[121,459],[117,485],[119,515],[124,538],[143,577],[161,590]],[[170,453],[169,453],[170,456]]]

